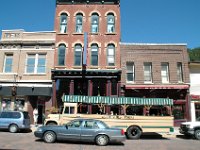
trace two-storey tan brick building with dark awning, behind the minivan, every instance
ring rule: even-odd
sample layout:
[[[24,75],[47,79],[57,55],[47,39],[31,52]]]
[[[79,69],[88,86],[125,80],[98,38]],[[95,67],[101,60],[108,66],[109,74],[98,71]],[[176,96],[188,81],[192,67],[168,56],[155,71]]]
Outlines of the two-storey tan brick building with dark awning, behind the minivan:
[[[39,123],[51,103],[55,32],[3,30],[0,40],[0,110],[24,110]],[[51,105],[51,104],[49,104]]]

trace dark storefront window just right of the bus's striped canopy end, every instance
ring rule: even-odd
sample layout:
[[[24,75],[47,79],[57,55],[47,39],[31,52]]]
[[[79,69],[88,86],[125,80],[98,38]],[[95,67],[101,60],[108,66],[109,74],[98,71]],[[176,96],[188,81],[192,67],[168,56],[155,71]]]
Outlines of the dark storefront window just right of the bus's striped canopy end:
[[[174,119],[184,119],[184,110],[185,105],[174,105],[173,106],[173,115]]]

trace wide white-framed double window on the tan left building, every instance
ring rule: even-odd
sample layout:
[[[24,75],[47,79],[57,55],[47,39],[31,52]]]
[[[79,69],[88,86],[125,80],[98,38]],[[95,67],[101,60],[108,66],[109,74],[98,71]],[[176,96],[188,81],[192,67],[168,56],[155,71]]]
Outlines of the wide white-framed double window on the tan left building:
[[[26,60],[26,73],[43,74],[46,72],[45,54],[28,54]]]

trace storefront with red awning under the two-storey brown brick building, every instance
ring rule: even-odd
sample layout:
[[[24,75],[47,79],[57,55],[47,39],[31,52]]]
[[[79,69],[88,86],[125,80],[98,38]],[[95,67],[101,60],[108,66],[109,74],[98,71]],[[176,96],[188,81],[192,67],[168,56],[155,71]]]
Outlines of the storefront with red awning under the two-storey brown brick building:
[[[190,119],[190,108],[188,100],[189,85],[125,85],[126,97],[143,98],[169,98],[173,99],[172,107],[154,106],[147,110],[149,115],[172,114],[174,125],[179,126],[181,122]],[[136,109],[136,108],[135,108]],[[139,108],[137,108],[139,109]],[[141,109],[138,110],[141,112]],[[163,113],[164,112],[164,113]]]

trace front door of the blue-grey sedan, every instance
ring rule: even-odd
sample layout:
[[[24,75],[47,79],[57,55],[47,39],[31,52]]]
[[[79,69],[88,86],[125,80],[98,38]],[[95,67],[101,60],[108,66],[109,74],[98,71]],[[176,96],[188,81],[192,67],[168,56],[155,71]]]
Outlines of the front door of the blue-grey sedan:
[[[75,120],[68,123],[62,130],[62,133],[59,133],[60,137],[64,140],[80,141],[81,123],[81,120]]]

